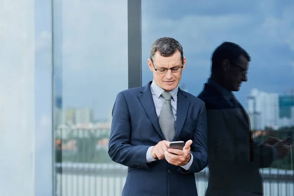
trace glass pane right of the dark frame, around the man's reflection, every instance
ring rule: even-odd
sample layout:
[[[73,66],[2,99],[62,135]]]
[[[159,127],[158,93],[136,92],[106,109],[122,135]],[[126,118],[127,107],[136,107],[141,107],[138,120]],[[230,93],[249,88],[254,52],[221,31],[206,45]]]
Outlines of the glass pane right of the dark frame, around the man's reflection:
[[[210,77],[213,51],[224,41],[236,43],[251,57],[248,81],[235,95],[248,113],[254,141],[293,137],[293,9],[291,0],[142,0],[142,85],[153,78],[147,59],[160,37],[175,38],[183,46],[187,64],[179,86],[195,96]],[[260,168],[265,196],[294,194],[293,166],[290,151]],[[196,173],[199,196],[206,192],[208,176],[208,168]]]

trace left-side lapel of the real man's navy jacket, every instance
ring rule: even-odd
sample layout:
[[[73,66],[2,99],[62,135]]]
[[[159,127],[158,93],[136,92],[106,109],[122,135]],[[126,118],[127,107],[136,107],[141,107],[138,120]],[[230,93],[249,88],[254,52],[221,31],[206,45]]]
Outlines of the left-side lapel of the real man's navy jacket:
[[[153,124],[154,128],[158,132],[158,134],[164,139],[163,133],[160,129],[151,90],[150,90],[150,84],[149,82],[145,87],[142,88],[142,91],[140,95],[138,95],[138,98],[140,99],[147,116],[149,117],[151,123]]]

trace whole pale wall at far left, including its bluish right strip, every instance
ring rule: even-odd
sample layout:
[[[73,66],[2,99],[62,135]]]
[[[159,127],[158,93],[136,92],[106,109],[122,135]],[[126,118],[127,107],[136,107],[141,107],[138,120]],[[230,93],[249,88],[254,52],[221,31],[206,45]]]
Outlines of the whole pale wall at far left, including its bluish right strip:
[[[1,195],[52,195],[50,3],[0,2]]]

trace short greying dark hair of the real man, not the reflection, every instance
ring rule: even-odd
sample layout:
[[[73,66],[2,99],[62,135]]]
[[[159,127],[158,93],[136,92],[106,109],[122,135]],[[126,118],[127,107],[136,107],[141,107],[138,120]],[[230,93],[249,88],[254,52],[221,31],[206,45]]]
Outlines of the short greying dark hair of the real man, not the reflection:
[[[181,44],[173,38],[162,37],[157,39],[151,46],[150,49],[150,59],[152,60],[155,53],[159,52],[161,56],[169,57],[172,56],[176,51],[181,53],[181,61],[183,63],[183,48]]]

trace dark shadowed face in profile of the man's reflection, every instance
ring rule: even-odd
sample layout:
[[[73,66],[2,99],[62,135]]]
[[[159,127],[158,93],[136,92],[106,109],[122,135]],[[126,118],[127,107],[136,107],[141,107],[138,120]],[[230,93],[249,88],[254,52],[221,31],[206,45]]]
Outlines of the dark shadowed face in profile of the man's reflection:
[[[225,85],[230,91],[239,91],[242,82],[247,81],[248,60],[240,56],[237,62],[230,62],[225,74]]]

